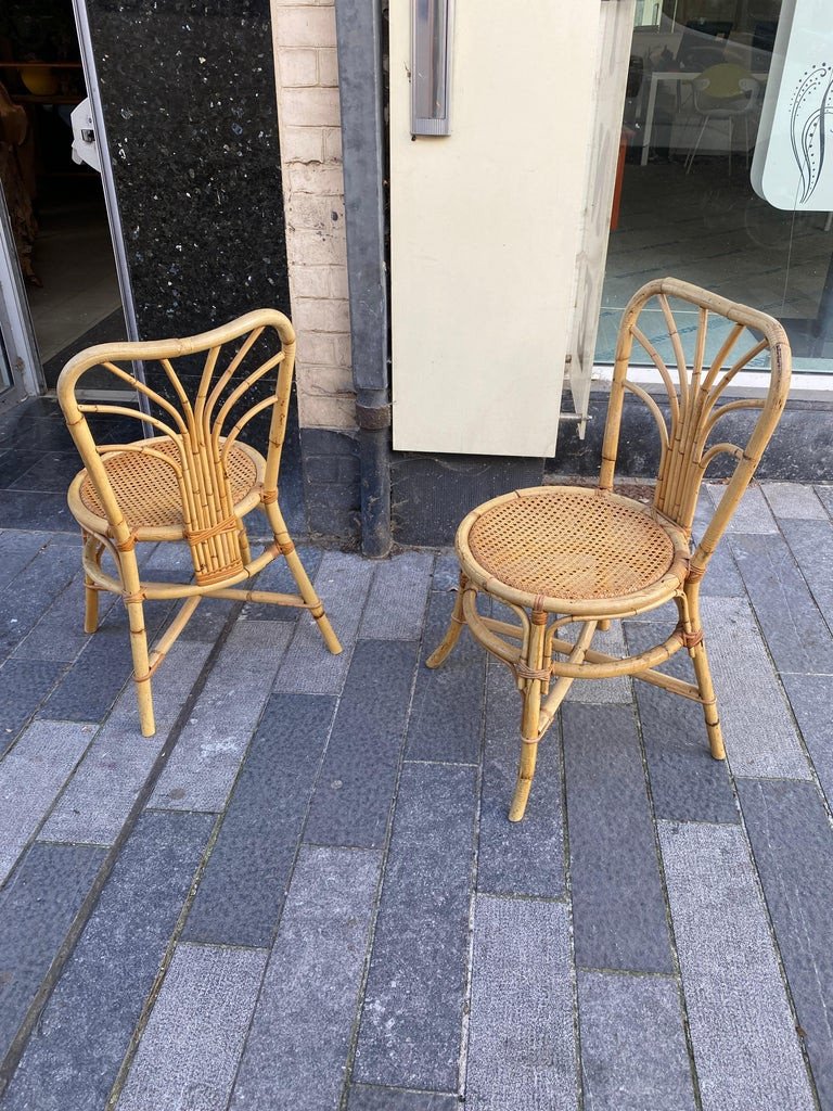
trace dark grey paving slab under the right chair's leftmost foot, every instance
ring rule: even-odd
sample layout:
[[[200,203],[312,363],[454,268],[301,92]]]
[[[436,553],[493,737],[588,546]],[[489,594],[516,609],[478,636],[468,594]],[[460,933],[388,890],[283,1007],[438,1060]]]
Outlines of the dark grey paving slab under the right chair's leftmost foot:
[[[408,722],[409,760],[476,763],[480,758],[486,653],[464,629],[442,667],[425,667],[445,635],[455,597],[449,590],[431,592]]]

